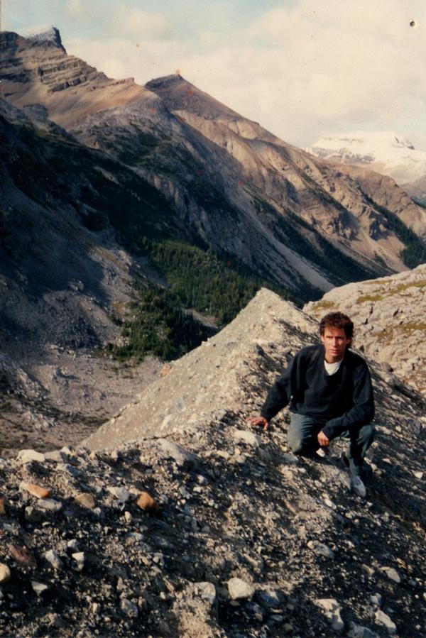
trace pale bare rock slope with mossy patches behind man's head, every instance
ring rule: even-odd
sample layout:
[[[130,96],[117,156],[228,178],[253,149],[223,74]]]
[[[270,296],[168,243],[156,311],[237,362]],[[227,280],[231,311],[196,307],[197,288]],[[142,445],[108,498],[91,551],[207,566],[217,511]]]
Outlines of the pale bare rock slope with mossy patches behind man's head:
[[[336,310],[354,320],[358,348],[426,397],[426,264],[334,288],[304,307],[315,319]]]

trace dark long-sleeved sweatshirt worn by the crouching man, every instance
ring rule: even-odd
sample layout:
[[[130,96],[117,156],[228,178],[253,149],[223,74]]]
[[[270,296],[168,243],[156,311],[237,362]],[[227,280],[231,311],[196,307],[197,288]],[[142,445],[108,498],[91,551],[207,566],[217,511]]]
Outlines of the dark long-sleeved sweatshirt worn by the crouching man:
[[[282,377],[268,392],[261,416],[268,421],[290,402],[290,410],[324,422],[329,439],[374,417],[373,388],[366,362],[346,349],[339,370],[328,375],[324,346],[308,346],[298,352]]]

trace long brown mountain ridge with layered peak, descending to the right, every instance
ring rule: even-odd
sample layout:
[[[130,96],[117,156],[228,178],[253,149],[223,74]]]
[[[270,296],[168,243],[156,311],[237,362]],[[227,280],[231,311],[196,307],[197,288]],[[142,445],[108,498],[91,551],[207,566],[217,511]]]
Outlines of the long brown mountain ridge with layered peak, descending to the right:
[[[300,297],[404,268],[410,240],[387,216],[398,224],[401,211],[379,210],[351,177],[179,75],[138,87],[105,77],[51,39],[2,38],[4,97],[19,108],[43,104],[75,138],[148,180],[185,226],[185,241]],[[415,214],[425,233],[425,211]]]

